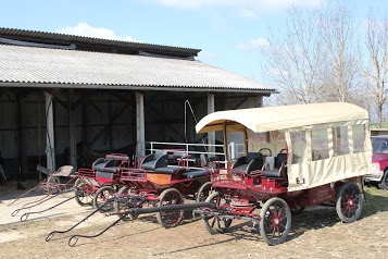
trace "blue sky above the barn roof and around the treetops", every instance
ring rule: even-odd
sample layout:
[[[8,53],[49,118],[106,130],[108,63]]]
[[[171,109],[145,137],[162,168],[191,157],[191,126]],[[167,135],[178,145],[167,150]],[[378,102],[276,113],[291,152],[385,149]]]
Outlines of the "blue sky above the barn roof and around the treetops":
[[[260,46],[268,26],[284,33],[291,3],[321,7],[321,0],[14,0],[2,1],[0,27],[198,48],[198,60],[263,82]],[[368,7],[388,10],[386,0],[349,3],[360,23]]]

